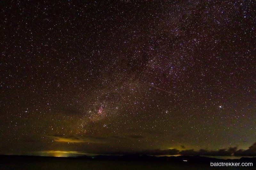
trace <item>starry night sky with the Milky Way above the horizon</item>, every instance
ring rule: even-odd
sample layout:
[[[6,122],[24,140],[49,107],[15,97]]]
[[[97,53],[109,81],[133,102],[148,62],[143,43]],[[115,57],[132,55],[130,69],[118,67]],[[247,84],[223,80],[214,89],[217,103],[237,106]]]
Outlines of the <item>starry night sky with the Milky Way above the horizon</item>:
[[[255,1],[0,6],[0,154],[256,155]]]

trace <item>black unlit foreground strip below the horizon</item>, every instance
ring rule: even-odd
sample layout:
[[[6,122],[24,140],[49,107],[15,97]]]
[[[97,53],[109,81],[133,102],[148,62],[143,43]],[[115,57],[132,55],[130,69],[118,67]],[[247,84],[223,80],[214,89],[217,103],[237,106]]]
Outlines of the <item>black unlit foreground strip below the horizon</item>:
[[[187,160],[187,161],[184,161]],[[211,162],[253,163],[251,167],[212,167]],[[256,158],[215,159],[199,156],[154,157],[154,156],[96,156],[96,157],[40,157],[0,156],[0,169],[256,169]]]

